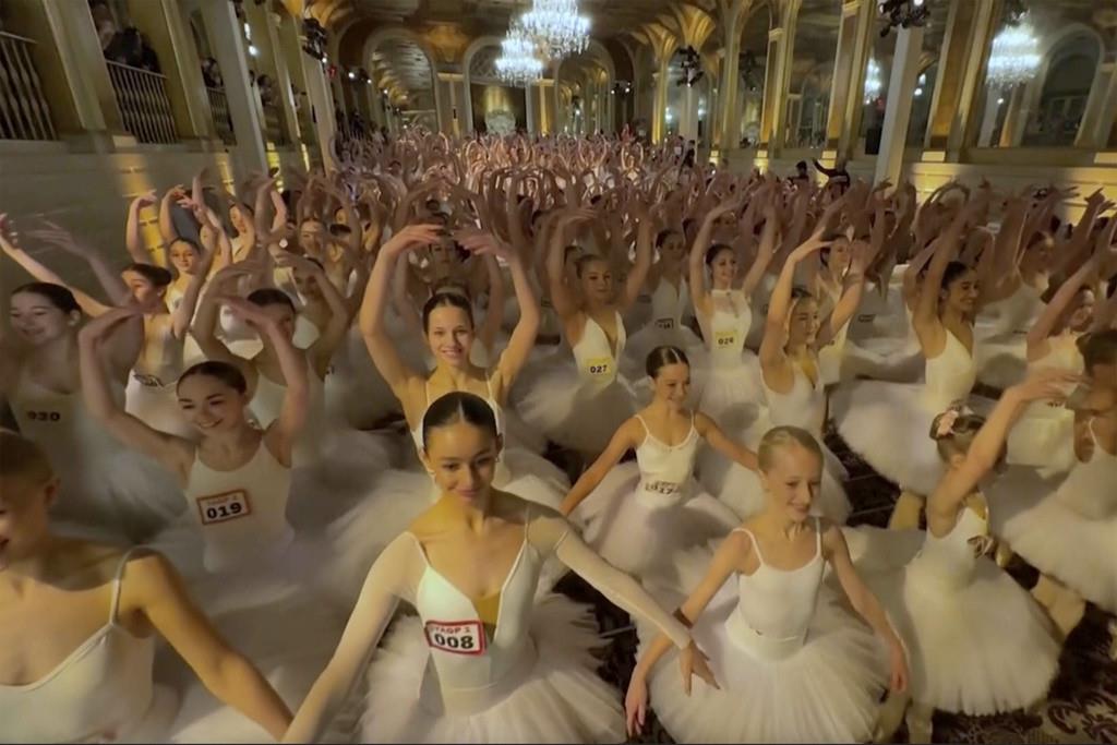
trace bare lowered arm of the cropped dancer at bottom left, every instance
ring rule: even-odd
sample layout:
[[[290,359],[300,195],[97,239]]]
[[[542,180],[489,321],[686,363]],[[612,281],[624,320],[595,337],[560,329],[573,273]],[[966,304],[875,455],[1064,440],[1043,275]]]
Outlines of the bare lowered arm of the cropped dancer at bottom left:
[[[131,560],[125,569],[121,606],[142,613],[216,698],[276,739],[284,735],[292,719],[287,705],[191,601],[171,562],[160,554]]]

